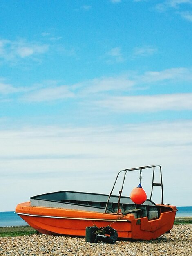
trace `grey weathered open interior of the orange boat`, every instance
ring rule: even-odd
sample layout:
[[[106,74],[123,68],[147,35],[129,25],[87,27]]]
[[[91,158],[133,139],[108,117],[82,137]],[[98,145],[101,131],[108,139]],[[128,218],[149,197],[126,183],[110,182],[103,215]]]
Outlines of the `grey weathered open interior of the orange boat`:
[[[84,193],[74,191],[59,191],[37,195],[30,198],[32,206],[40,207],[56,207],[85,211],[104,212],[108,195],[96,193]],[[118,196],[112,195],[107,213],[117,213]],[[135,218],[148,217],[149,220],[159,218],[161,212],[171,211],[167,206],[156,206],[154,202],[147,199],[143,204],[137,205],[132,202],[129,197],[121,197],[120,201],[121,213],[134,214]]]

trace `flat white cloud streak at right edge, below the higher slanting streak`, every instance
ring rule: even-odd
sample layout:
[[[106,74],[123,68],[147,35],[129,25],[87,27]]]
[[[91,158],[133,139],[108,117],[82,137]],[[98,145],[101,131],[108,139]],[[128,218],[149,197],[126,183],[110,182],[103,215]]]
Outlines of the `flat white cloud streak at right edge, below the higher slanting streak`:
[[[192,93],[117,96],[97,101],[96,104],[101,108],[129,113],[192,110]]]

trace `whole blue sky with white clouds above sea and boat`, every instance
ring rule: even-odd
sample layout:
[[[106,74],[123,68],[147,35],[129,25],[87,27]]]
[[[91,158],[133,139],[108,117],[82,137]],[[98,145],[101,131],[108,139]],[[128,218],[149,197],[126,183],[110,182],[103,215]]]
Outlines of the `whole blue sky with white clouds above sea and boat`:
[[[192,0],[1,1],[0,211],[151,164],[192,205],[191,52]]]

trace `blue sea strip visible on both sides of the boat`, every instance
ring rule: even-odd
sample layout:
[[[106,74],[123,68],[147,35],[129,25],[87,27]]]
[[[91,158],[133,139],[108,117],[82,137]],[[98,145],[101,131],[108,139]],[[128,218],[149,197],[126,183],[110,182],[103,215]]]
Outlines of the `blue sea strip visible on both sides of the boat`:
[[[192,206],[178,206],[176,217],[192,217]],[[0,212],[0,227],[13,227],[28,225],[14,211]]]

